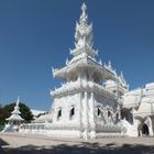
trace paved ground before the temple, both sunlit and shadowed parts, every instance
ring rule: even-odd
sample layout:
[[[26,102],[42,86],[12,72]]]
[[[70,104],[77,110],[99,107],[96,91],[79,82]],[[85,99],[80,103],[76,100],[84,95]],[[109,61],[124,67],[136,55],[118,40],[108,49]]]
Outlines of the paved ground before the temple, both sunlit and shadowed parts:
[[[0,154],[154,154],[154,138],[53,139],[0,133]]]

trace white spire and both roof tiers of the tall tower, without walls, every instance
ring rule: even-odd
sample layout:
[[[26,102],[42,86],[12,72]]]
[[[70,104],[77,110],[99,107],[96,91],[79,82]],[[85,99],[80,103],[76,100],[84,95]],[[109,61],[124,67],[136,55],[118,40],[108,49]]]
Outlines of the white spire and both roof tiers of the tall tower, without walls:
[[[107,65],[102,64],[101,61],[97,61],[96,56],[98,55],[98,51],[94,50],[92,24],[88,23],[86,10],[87,7],[84,3],[81,6],[79,22],[76,22],[75,48],[70,50],[73,58],[70,61],[66,59],[66,66],[63,68],[53,68],[53,76],[63,78],[67,82],[51,94],[52,96],[59,96],[70,91],[73,92],[74,90],[81,91],[89,89],[94,91],[97,89],[98,92],[106,92],[108,96],[112,95],[114,98],[117,94],[106,89],[107,87],[103,86],[102,82],[110,80],[110,86],[114,82],[114,86],[119,86],[119,89],[120,86],[127,89],[128,85],[122,74],[120,76],[117,75],[110,62]],[[84,85],[84,73],[87,74],[87,85]],[[123,92],[124,90],[121,89],[121,91]]]

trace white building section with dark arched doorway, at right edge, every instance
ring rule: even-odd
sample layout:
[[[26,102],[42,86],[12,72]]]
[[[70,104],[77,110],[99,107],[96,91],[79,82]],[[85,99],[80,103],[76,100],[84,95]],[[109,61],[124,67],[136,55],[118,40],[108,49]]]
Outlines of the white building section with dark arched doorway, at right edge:
[[[130,130],[133,129],[133,133],[128,130],[128,135],[154,136],[154,82],[129,91],[123,98],[122,119],[129,123]]]

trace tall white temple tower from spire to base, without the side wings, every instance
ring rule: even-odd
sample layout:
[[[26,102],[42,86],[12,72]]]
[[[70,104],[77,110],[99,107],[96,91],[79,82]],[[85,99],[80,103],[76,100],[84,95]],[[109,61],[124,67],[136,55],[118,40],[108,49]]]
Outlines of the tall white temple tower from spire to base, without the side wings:
[[[76,23],[75,48],[73,58],[66,66],[53,69],[53,76],[63,78],[62,87],[51,91],[53,97],[52,135],[76,138],[98,138],[120,135],[123,128],[120,120],[120,97],[127,90],[121,84],[119,91],[111,91],[108,81],[117,81],[111,65],[97,62],[97,51],[92,46],[92,24],[88,24],[86,4],[81,6],[81,15]],[[122,81],[122,80],[118,80]],[[125,87],[124,87],[125,86]],[[116,87],[117,88],[117,87]]]

